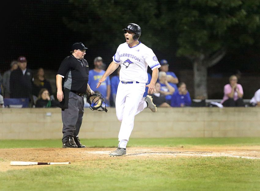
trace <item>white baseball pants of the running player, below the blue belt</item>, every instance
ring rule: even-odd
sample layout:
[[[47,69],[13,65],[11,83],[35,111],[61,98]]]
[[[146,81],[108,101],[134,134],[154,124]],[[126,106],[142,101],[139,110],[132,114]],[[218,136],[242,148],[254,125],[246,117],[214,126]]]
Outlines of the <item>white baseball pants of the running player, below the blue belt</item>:
[[[118,146],[126,148],[127,142],[134,128],[136,114],[139,114],[147,107],[143,99],[145,92],[144,83],[122,84],[120,81],[117,88],[116,96],[116,113],[117,119],[121,121],[121,127],[118,134],[120,141]]]

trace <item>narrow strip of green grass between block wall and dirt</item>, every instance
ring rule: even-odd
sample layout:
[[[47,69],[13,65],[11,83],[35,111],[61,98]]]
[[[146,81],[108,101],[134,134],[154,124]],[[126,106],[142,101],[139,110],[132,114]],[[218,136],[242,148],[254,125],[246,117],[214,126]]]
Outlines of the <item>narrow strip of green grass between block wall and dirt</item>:
[[[117,139],[81,139],[87,147],[116,147]],[[260,145],[260,137],[242,138],[130,138],[128,147],[179,147],[193,145]],[[61,140],[0,140],[0,148],[60,148]]]

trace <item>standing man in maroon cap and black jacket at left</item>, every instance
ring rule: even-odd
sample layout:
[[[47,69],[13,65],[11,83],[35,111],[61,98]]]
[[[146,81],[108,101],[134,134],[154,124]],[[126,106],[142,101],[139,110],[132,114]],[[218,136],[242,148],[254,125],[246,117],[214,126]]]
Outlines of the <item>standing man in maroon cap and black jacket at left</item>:
[[[10,97],[31,99],[32,70],[27,68],[27,60],[24,56],[20,56],[17,62],[19,67],[10,75]]]

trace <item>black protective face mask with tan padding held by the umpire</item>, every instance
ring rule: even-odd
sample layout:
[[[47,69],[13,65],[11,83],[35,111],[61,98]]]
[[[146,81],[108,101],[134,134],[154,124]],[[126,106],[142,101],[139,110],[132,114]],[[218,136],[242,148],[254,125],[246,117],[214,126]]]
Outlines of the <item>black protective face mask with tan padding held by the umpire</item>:
[[[98,110],[98,111],[106,111],[106,102],[103,99],[102,94],[86,94],[87,102],[89,103],[89,108],[91,110]]]

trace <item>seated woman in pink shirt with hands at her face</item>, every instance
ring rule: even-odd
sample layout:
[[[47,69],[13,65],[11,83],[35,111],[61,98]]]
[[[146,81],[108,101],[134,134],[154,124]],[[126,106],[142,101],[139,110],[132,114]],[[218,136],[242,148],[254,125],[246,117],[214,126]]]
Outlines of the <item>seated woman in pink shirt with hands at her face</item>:
[[[244,107],[243,94],[243,88],[237,83],[237,77],[232,75],[229,77],[229,84],[224,86],[221,104],[224,107]]]

